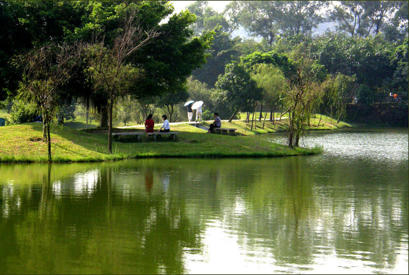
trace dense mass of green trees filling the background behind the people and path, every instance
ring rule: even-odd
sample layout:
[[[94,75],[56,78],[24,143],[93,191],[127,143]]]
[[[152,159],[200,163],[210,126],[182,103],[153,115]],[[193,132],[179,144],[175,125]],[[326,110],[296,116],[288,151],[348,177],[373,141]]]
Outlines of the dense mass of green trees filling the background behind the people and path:
[[[148,41],[117,62],[118,37],[124,37],[123,19],[131,10],[140,36],[130,44]],[[332,30],[316,32],[323,23]],[[234,36],[238,29],[256,39]],[[108,118],[111,127],[112,117],[140,123],[147,113],[185,120],[189,99],[203,100],[208,118],[214,111],[231,119],[258,109],[261,119],[275,108],[297,119],[290,111],[301,102],[302,123],[312,112],[339,120],[350,117],[353,102],[407,105],[407,37],[408,4],[400,0],[231,1],[224,12],[198,0],[179,13],[166,0],[0,1],[0,105],[16,102],[12,117],[23,117],[16,97],[25,94],[36,112],[55,120],[75,106],[74,99],[101,127]],[[46,66],[42,76],[30,74],[28,59],[21,58],[60,45],[72,50],[73,44],[82,49],[74,50],[75,62],[66,62],[73,73],[56,85],[43,77]],[[49,73],[58,67],[55,58]],[[38,100],[35,85],[42,94],[48,90],[51,105],[49,98]]]

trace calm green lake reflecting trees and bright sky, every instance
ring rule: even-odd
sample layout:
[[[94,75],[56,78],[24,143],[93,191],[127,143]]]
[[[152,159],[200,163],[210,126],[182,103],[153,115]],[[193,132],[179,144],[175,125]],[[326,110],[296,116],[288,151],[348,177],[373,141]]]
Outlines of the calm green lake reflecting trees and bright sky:
[[[325,152],[0,164],[0,273],[408,273],[407,128],[303,142]]]

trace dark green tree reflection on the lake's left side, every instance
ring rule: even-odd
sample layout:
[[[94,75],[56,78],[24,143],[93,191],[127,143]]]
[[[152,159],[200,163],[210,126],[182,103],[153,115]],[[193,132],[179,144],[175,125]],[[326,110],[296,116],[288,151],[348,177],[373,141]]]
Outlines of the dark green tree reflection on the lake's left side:
[[[79,193],[62,181],[62,195],[53,193],[48,169],[37,186],[40,197],[22,201],[24,213],[1,220],[1,240],[9,240],[1,241],[1,273],[183,273],[182,249],[199,246],[183,201],[154,195],[123,200],[115,167],[97,166],[91,188]],[[2,192],[2,199],[12,204],[28,190]]]

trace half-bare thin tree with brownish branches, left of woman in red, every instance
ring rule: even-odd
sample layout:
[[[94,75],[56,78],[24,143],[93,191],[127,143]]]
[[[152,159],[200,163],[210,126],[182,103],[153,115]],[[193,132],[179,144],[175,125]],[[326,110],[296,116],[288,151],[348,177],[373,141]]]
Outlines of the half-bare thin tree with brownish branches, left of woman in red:
[[[123,28],[114,38],[112,46],[105,46],[104,38],[88,45],[88,72],[94,89],[108,98],[108,151],[112,153],[112,109],[119,96],[129,92],[142,70],[129,62],[132,53],[146,45],[160,33],[157,28],[143,27],[137,9],[129,9]]]

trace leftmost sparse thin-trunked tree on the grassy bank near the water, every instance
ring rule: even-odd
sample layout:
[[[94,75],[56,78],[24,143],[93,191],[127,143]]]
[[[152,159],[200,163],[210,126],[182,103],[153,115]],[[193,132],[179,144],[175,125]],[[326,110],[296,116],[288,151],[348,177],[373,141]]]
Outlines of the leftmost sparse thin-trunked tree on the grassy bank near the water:
[[[42,113],[43,141],[48,143],[48,161],[51,161],[49,125],[59,107],[60,88],[73,74],[79,52],[78,47],[48,43],[18,58],[23,66],[19,96],[34,102]]]

